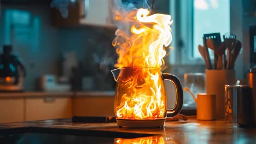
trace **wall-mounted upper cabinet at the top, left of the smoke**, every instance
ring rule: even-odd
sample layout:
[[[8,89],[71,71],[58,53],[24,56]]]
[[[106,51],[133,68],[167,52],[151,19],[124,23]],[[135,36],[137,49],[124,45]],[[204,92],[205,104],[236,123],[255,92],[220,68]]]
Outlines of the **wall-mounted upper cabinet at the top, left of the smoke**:
[[[53,26],[100,26],[115,27],[112,16],[113,0],[84,0],[70,3],[68,17],[63,18],[60,11],[53,10]]]

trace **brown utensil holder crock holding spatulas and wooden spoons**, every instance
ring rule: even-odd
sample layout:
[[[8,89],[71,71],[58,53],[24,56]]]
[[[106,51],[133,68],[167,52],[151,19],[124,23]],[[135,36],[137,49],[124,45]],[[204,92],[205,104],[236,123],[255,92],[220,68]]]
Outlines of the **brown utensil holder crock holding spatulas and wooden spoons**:
[[[225,85],[235,84],[235,70],[206,70],[206,93],[216,94],[216,118],[225,117]]]

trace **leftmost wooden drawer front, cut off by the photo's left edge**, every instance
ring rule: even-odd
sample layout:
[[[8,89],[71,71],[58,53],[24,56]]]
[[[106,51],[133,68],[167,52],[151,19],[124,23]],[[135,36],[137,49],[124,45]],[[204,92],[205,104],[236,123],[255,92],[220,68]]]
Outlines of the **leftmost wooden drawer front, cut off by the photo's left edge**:
[[[24,98],[0,99],[0,123],[25,121]]]

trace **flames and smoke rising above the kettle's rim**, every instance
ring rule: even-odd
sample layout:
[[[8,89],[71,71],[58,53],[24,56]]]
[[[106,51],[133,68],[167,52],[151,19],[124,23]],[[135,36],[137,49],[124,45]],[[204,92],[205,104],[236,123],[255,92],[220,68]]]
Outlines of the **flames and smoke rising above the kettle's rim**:
[[[154,14],[147,0],[115,0],[113,17],[117,31],[115,67],[162,67],[165,47],[172,41],[171,16]],[[151,6],[150,6],[151,5]]]

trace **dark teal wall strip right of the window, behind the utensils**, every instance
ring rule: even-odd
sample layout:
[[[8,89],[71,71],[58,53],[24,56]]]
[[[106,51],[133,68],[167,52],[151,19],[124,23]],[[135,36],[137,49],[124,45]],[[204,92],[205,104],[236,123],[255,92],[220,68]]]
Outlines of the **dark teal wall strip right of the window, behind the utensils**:
[[[231,32],[242,41],[242,52],[238,55],[235,65],[238,79],[247,79],[247,73],[251,68],[249,27],[256,25],[255,3],[252,0],[230,1]]]

